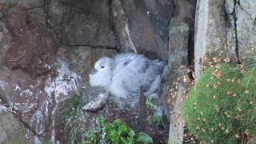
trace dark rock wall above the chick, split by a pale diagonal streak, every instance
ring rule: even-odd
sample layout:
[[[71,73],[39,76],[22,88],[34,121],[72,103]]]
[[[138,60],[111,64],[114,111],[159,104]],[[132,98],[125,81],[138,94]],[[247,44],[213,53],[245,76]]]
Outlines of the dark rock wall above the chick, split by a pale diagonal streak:
[[[172,7],[172,2],[168,0],[54,0],[46,1],[46,17],[53,29],[54,39],[63,45],[102,46],[165,59],[168,42],[166,27],[172,16]]]

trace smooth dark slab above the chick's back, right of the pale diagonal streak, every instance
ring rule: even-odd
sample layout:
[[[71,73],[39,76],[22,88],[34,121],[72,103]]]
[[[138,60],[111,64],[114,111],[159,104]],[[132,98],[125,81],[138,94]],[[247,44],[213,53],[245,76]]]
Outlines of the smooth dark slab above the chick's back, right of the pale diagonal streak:
[[[170,0],[120,1],[126,14],[130,38],[139,54],[166,60],[168,26],[173,14]]]

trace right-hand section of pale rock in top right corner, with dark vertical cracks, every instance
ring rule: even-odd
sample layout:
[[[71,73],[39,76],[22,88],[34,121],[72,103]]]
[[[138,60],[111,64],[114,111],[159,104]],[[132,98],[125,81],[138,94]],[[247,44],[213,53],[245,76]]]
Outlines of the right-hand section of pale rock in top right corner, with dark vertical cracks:
[[[253,0],[226,0],[226,27],[228,46],[237,50],[238,58],[253,58],[256,45],[256,2]]]

